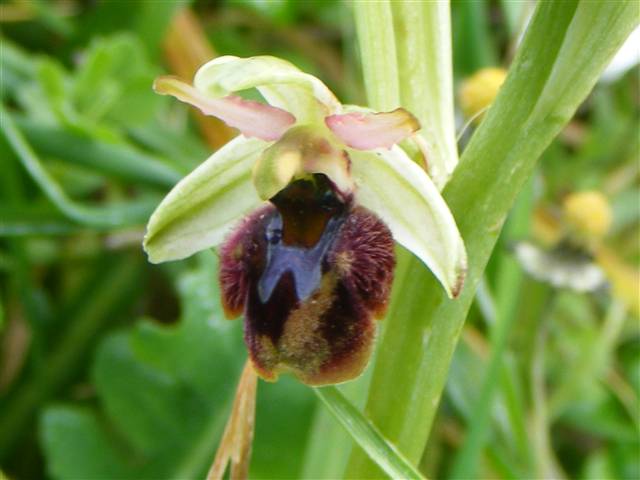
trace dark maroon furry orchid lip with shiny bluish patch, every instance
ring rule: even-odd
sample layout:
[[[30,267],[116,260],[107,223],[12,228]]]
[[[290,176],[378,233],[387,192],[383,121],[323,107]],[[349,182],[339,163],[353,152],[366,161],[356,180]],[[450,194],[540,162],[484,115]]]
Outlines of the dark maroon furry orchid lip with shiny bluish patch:
[[[221,248],[228,317],[265,380],[309,385],[358,376],[387,307],[395,257],[387,226],[324,174],[291,181],[241,221]]]

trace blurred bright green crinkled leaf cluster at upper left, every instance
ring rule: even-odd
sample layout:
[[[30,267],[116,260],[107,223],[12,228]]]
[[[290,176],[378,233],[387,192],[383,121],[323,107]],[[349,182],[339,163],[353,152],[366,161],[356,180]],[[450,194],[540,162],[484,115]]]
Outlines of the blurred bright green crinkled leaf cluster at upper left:
[[[130,35],[94,40],[72,72],[53,57],[20,58],[10,51],[9,62],[17,57],[31,64],[26,69],[16,61],[21,70],[15,72],[29,75],[15,88],[27,114],[76,133],[118,138],[119,130],[154,118],[164,103],[151,89],[157,69]],[[13,71],[13,63],[8,67]]]

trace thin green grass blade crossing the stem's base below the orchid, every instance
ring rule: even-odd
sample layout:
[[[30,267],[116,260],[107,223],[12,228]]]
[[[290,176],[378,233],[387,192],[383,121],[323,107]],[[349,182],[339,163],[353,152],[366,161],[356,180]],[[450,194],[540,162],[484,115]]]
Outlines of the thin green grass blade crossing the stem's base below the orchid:
[[[320,400],[351,434],[356,443],[391,478],[424,479],[424,476],[386,440],[336,387],[314,388]]]

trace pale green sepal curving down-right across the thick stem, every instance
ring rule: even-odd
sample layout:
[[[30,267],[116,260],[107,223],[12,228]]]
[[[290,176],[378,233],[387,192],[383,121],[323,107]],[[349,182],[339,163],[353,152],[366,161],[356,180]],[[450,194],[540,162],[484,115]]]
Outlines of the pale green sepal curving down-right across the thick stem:
[[[467,255],[447,204],[429,176],[398,146],[349,150],[357,203],[385,221],[394,239],[429,267],[450,297],[462,288]]]

